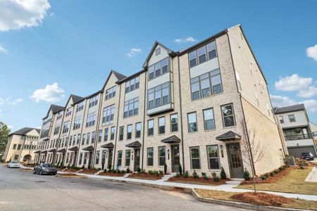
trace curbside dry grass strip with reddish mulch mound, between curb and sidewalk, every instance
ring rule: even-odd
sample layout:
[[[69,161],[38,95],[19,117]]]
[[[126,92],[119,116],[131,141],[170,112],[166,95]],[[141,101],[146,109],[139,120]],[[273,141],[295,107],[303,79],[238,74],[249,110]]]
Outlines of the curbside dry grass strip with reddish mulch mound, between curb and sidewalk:
[[[254,196],[252,192],[235,193],[203,189],[195,189],[195,191],[199,194],[199,196],[204,198],[236,201],[253,205],[270,205],[292,209],[317,210],[317,201],[285,198],[283,196],[276,196],[268,193],[258,193],[256,196]]]

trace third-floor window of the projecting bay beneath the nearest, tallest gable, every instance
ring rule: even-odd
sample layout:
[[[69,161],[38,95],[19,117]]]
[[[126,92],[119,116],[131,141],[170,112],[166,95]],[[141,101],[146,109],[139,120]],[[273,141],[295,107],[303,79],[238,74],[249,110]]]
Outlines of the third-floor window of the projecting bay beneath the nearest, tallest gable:
[[[170,103],[170,83],[166,82],[149,89],[148,109],[156,108]]]

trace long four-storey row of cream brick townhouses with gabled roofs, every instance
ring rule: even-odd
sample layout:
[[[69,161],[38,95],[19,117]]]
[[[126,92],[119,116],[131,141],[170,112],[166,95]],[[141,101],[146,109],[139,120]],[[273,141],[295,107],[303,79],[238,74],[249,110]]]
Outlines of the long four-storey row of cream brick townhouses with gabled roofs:
[[[71,95],[65,110],[59,135],[42,137],[40,160],[51,160],[45,156],[51,149],[60,154],[55,164],[132,171],[166,164],[168,172],[182,165],[209,176],[223,167],[242,178],[250,170],[241,153],[249,139],[242,125],[256,132],[265,152],[256,174],[284,158],[266,78],[240,25],[184,51],[156,41],[142,70],[129,77],[111,70],[100,91],[76,101]],[[56,127],[46,122],[53,117],[50,110],[42,131]],[[51,141],[54,148],[46,146]]]

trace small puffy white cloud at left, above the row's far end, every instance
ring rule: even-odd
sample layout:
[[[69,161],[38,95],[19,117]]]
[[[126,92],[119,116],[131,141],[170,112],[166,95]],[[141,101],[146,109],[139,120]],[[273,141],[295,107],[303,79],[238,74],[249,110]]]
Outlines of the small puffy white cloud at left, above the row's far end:
[[[58,87],[58,83],[47,84],[44,89],[37,89],[33,92],[30,98],[33,98],[36,102],[46,101],[46,102],[56,102],[63,98],[64,90]]]

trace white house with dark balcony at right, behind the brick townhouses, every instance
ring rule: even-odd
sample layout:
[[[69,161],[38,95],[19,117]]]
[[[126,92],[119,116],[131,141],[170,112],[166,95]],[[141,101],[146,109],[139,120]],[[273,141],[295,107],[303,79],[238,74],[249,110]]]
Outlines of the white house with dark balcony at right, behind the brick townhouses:
[[[304,104],[274,108],[280,121],[289,155],[299,158],[304,152],[316,155],[316,143],[313,141],[309,117]]]

